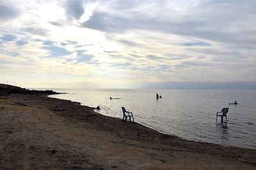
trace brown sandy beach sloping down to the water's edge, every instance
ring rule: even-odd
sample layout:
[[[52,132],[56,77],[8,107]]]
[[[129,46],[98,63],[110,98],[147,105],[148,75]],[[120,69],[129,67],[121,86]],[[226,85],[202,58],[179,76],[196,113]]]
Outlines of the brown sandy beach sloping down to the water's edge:
[[[2,93],[0,169],[256,169],[256,150],[187,141],[46,94]]]

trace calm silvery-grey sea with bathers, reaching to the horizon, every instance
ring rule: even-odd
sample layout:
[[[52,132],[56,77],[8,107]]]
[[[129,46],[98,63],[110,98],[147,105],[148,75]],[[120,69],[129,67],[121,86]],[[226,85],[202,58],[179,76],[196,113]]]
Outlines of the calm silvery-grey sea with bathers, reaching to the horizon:
[[[54,89],[58,99],[97,107],[122,118],[124,106],[135,122],[180,138],[256,149],[256,90]],[[156,99],[156,93],[163,98]],[[109,97],[118,97],[112,99]],[[237,105],[229,105],[237,101]],[[227,124],[216,112],[229,108]],[[224,119],[225,120],[225,119]]]

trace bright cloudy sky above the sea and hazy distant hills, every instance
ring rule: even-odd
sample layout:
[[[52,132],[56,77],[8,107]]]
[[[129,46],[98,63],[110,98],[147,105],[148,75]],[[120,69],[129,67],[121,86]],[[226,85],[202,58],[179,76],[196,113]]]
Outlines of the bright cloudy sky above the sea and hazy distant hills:
[[[0,1],[1,83],[256,81],[256,1]]]

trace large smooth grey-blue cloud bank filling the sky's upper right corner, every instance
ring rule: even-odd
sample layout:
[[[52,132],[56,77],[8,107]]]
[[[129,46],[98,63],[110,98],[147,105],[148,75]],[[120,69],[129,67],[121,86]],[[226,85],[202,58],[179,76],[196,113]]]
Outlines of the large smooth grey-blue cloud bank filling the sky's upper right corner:
[[[251,23],[245,20],[253,15],[252,6],[256,4],[254,1],[246,1],[246,3],[229,1],[228,4],[220,1],[198,1],[198,3],[193,4],[184,3],[183,1],[173,1],[172,3],[168,3],[168,1],[161,1],[161,3],[148,1],[145,3],[143,1],[143,3],[138,2],[136,8],[131,6],[128,10],[127,8],[122,10],[120,4],[113,4],[116,4],[116,2],[105,6],[105,8],[111,8],[109,10],[95,10],[92,17],[84,22],[83,26],[104,32],[143,29],[225,43],[246,43],[246,41],[256,43],[255,39],[248,36],[252,35],[253,32],[255,33],[255,29],[249,31],[244,30],[243,27],[243,25],[250,25]],[[138,6],[143,5],[147,7],[138,8]],[[175,5],[179,10],[175,8]],[[112,8],[112,6],[114,7]],[[104,5],[102,8],[104,8]],[[157,9],[161,9],[164,16]],[[121,10],[122,14],[118,15]],[[185,10],[189,11],[185,12]],[[232,11],[238,13],[230,15]],[[237,25],[241,21],[243,21],[243,25]],[[236,25],[236,29],[232,27],[233,25]],[[244,34],[244,36],[241,36],[241,34]]]

